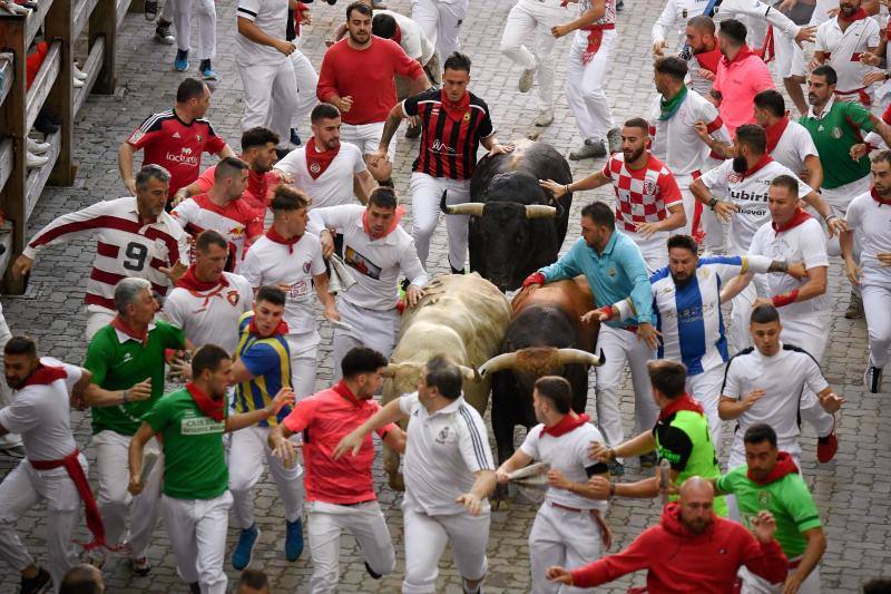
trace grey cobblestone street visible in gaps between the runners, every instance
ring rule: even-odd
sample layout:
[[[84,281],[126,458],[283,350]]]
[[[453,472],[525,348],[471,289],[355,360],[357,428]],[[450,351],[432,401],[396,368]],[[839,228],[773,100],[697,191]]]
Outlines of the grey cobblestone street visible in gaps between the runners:
[[[304,29],[302,50],[319,68],[324,52],[324,39],[336,22],[343,20],[346,1],[331,7],[321,0],[311,4],[313,23]],[[388,0],[389,8],[410,12],[410,0]],[[482,97],[492,110],[498,137],[502,143],[526,137],[535,128],[537,105],[533,92],[521,95],[517,90],[520,70],[499,51],[501,31],[512,0],[470,0],[470,13],[462,27],[462,50],[473,59],[471,90]],[[575,9],[571,9],[575,10]],[[618,18],[618,40],[613,68],[608,70],[606,89],[617,123],[627,117],[645,114],[653,98],[650,64],[650,26],[662,10],[660,0],[629,0]],[[567,21],[570,20],[567,18]],[[214,67],[221,79],[215,84],[208,118],[217,134],[237,150],[239,119],[244,104],[242,84],[235,68],[235,1],[217,2],[218,50]],[[175,46],[163,46],[153,40],[154,23],[147,23],[141,13],[127,16],[121,29],[118,55],[118,89],[112,96],[91,96],[79,121],[75,123],[77,181],[74,187],[47,188],[31,218],[29,237],[51,218],[82,208],[100,199],[116,198],[126,191],[118,176],[117,149],[127,135],[154,111],[172,107],[178,82],[186,76],[173,70]],[[561,39],[555,49],[558,81],[558,100],[555,121],[545,128],[540,140],[548,142],[564,155],[580,143],[575,120],[562,96],[566,57],[569,41]],[[81,53],[78,55],[82,59]],[[197,76],[193,61],[190,76]],[[535,90],[535,89],[533,89]],[[540,128],[539,128],[540,129]],[[309,138],[306,123],[301,135]],[[410,165],[417,153],[417,140],[399,138],[394,166],[396,189],[411,210],[409,194]],[[212,159],[205,160],[205,164]],[[572,164],[574,176],[587,175],[603,159]],[[825,166],[825,164],[824,164]],[[610,187],[576,194],[566,246],[578,237],[578,213],[594,199],[613,199]],[[410,216],[407,215],[407,216]],[[403,223],[410,227],[407,220]],[[431,274],[449,271],[447,263],[444,224],[440,222],[431,245]],[[28,332],[39,339],[45,354],[71,363],[82,363],[85,317],[82,299],[86,277],[95,250],[95,240],[87,238],[61,249],[46,250],[35,265],[30,288],[22,296],[3,296],[2,305],[13,334]],[[829,549],[823,557],[821,576],[823,592],[854,593],[870,577],[891,573],[891,411],[882,406],[888,393],[871,395],[862,384],[866,363],[866,329],[863,320],[845,320],[841,312],[848,303],[849,285],[840,260],[830,269],[830,292],[833,300],[831,342],[824,357],[824,371],[835,390],[848,399],[839,419],[840,449],[835,460],[817,465],[816,439],[805,426],[802,441],[803,473],[810,485],[824,526],[828,529]],[[321,318],[320,318],[321,319]],[[322,356],[319,362],[317,388],[326,387],[332,374],[331,327],[321,324]],[[885,382],[887,384],[889,382]],[[633,398],[630,382],[623,383],[623,413],[626,431],[633,427]],[[589,392],[589,413],[594,417],[594,391]],[[488,416],[487,416],[488,419]],[[78,445],[91,464],[95,456],[89,448],[89,416],[75,412]],[[725,435],[730,426],[725,427]],[[522,431],[518,434],[518,439]],[[726,440],[725,440],[726,441]],[[492,440],[492,446],[495,445]],[[726,444],[725,444],[726,446]],[[724,451],[728,448],[725,447]],[[14,466],[16,460],[0,457],[0,476]],[[629,462],[625,480],[640,478],[636,461]],[[95,479],[95,473],[91,473]],[[94,485],[96,483],[94,481]],[[393,536],[399,559],[394,574],[372,581],[363,567],[362,556],[350,536],[342,541],[341,592],[398,592],[403,576],[404,547],[402,539],[401,494],[390,490],[381,469],[375,465],[375,486]],[[285,520],[277,493],[266,477],[255,490],[257,522],[263,535],[255,549],[253,567],[264,568],[274,592],[307,592],[312,572],[309,548],[295,563],[284,558]],[[615,533],[614,548],[625,547],[645,527],[658,518],[659,506],[654,500],[619,499],[613,503],[607,519]],[[493,513],[489,541],[489,575],[483,590],[492,593],[529,591],[529,559],[527,537],[535,517],[536,506],[513,497],[508,509]],[[45,508],[41,506],[18,525],[31,553],[45,559]],[[86,535],[80,522],[78,539]],[[227,552],[232,551],[236,530],[229,528]],[[147,577],[135,577],[121,557],[110,556],[105,566],[111,593],[188,592],[176,575],[175,559],[163,523],[159,523],[149,558],[154,569]],[[226,567],[231,581],[238,572]],[[438,592],[460,593],[460,576],[447,552],[440,565]],[[0,577],[0,592],[16,592],[18,573],[6,567]],[[643,586],[644,574],[636,574],[598,588],[598,592],[624,593],[629,586]]]

